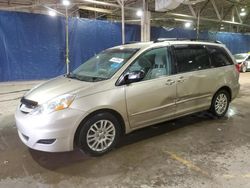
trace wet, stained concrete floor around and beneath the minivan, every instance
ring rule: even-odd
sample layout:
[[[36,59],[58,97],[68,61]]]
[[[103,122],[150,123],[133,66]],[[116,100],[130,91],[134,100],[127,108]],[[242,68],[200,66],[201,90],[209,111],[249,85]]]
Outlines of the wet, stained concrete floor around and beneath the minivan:
[[[44,153],[17,136],[19,93],[37,82],[0,85],[0,187],[250,187],[250,72],[227,117],[207,112],[127,135],[102,157]]]

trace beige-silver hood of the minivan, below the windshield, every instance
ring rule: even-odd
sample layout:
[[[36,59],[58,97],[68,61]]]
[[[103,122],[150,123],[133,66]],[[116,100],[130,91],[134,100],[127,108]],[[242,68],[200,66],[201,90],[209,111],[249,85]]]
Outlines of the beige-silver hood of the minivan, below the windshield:
[[[66,77],[58,77],[44,82],[25,94],[25,98],[43,104],[57,96],[75,93],[77,90],[87,89],[94,83],[83,82]]]

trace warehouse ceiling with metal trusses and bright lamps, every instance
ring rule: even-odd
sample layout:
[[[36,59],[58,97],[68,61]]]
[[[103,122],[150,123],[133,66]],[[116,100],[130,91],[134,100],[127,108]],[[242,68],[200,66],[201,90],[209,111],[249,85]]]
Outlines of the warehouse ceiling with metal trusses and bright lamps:
[[[71,0],[68,9],[71,16],[120,21],[118,1],[122,0]],[[140,24],[136,11],[142,8],[142,1],[124,0],[126,23]],[[189,29],[250,33],[249,0],[184,0],[176,9],[164,12],[155,11],[155,0],[146,1],[154,26],[184,27],[191,22]],[[242,8],[245,16],[240,16]],[[0,0],[0,10],[48,14],[51,9],[65,13],[61,0]]]

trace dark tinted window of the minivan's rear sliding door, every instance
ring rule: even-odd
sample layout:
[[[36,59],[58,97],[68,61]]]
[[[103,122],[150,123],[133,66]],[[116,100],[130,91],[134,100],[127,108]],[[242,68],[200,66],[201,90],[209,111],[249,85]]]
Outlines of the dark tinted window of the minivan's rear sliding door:
[[[211,67],[207,50],[201,45],[174,46],[179,73]]]

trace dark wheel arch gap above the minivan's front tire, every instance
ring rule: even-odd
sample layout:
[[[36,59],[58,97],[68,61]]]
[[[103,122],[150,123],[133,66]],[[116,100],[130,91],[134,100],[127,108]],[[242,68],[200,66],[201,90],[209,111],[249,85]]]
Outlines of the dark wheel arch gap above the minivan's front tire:
[[[79,132],[80,132],[80,129],[82,128],[82,126],[84,126],[84,123],[89,118],[93,117],[94,115],[99,114],[99,113],[104,113],[104,112],[110,113],[110,114],[114,115],[117,118],[117,120],[119,121],[120,126],[121,126],[121,136],[123,136],[126,133],[125,121],[124,121],[122,115],[119,112],[117,112],[116,110],[113,110],[113,109],[109,109],[109,108],[99,109],[99,110],[93,111],[90,114],[88,114],[79,123],[79,125],[78,125],[78,127],[77,127],[77,129],[75,131],[75,134],[74,134],[74,140],[73,140],[73,147],[74,148],[78,147],[78,142],[77,141],[79,139]]]

